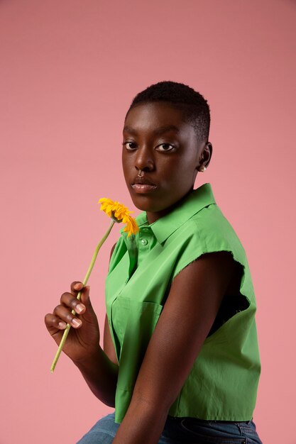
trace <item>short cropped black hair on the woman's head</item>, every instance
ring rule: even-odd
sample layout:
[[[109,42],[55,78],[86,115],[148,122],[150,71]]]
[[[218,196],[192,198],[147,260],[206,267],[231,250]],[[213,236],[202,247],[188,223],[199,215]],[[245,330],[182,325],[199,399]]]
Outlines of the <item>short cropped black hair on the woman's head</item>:
[[[131,102],[128,111],[142,103],[166,101],[182,111],[185,121],[194,127],[197,139],[206,141],[209,138],[209,105],[202,94],[183,83],[158,82],[139,92]],[[128,112],[126,113],[126,116]]]

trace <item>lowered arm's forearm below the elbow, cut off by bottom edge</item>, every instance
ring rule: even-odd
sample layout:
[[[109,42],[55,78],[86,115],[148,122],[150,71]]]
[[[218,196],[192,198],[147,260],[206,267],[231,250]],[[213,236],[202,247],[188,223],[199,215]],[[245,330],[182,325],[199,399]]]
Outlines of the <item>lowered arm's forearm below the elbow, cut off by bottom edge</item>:
[[[113,444],[157,444],[167,416],[168,411],[162,411],[158,406],[132,401]]]

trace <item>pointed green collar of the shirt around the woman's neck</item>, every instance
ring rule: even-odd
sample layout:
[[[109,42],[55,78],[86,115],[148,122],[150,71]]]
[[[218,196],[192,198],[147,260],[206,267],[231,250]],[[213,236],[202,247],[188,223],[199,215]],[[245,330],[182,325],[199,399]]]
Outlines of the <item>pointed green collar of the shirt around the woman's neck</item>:
[[[194,189],[171,213],[151,223],[150,228],[158,243],[163,243],[194,214],[211,204],[216,204],[216,201],[210,184],[203,184]],[[136,221],[140,229],[143,226],[148,226],[146,211],[139,214]]]

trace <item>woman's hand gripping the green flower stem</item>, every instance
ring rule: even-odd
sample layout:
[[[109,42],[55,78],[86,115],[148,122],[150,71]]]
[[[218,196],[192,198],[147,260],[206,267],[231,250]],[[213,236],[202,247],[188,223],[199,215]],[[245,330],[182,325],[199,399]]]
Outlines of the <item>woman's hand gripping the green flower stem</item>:
[[[80,291],[81,299],[78,301],[76,298]],[[75,315],[72,314],[73,309]],[[89,299],[89,287],[83,287],[82,282],[72,282],[71,292],[63,293],[53,314],[45,315],[45,326],[57,345],[67,323],[71,328],[63,347],[64,353],[73,362],[89,360],[99,348],[99,323]]]

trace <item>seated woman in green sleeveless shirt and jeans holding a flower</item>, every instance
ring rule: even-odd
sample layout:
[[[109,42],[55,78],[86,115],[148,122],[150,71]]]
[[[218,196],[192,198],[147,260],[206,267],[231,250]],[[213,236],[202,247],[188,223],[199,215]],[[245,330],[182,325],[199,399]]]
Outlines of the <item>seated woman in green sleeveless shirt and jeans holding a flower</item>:
[[[260,361],[245,252],[209,184],[209,106],[192,88],[159,82],[124,122],[122,163],[136,237],[111,252],[104,350],[84,287],[73,282],[45,316],[89,388],[114,414],[80,444],[261,443],[252,420]],[[75,309],[77,314],[72,315]]]

